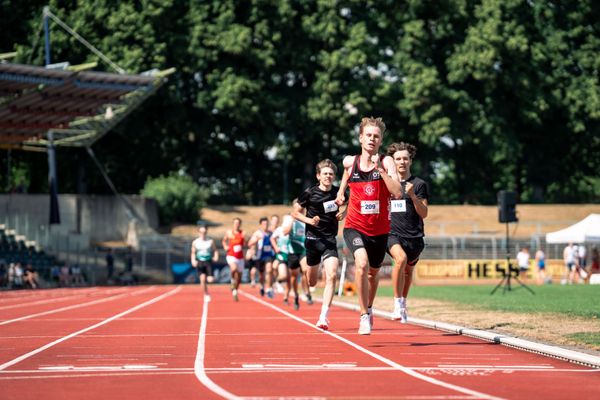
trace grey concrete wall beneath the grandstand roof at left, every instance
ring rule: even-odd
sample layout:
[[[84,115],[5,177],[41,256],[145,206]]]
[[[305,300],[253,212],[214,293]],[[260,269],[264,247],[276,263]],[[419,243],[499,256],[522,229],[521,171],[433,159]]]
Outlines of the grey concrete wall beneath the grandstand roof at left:
[[[153,199],[136,195],[124,197],[151,228],[158,227],[158,205]],[[119,198],[61,194],[58,204],[60,231],[89,236],[92,242],[126,238],[130,218]],[[49,195],[0,194],[0,223],[7,223],[13,229],[24,231],[25,227],[31,230],[47,226],[49,211]]]

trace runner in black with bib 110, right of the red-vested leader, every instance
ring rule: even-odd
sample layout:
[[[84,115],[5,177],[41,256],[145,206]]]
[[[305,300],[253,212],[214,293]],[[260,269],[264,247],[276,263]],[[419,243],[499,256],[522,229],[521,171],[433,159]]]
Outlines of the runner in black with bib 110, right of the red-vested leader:
[[[423,220],[427,218],[429,190],[427,182],[410,172],[417,148],[412,144],[393,143],[387,155],[394,159],[403,195],[392,198],[392,226],[388,236],[388,252],[394,259],[392,285],[394,287],[394,312],[392,319],[406,323],[406,300],[412,283],[413,270],[425,248]]]

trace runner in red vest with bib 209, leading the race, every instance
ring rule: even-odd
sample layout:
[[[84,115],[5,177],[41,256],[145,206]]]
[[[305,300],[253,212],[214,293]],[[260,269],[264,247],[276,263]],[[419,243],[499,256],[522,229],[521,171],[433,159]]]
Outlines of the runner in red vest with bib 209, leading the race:
[[[390,232],[390,195],[399,197],[402,193],[393,159],[379,155],[384,133],[385,123],[381,118],[361,120],[361,154],[344,157],[344,176],[336,199],[337,204],[343,203],[348,185],[350,199],[344,240],[354,256],[360,335],[371,334],[373,326],[371,307]]]

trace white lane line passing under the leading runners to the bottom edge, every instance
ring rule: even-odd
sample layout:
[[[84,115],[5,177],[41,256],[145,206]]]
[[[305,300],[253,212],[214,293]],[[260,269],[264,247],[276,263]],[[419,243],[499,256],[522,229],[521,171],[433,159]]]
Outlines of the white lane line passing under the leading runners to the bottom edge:
[[[381,361],[382,363],[387,364],[390,367],[393,367],[393,368],[395,368],[395,369],[397,369],[399,371],[402,371],[405,374],[410,375],[410,376],[412,376],[414,378],[423,380],[425,382],[431,383],[431,384],[436,385],[436,386],[441,386],[441,387],[444,387],[446,389],[454,390],[454,391],[457,391],[459,393],[467,394],[467,395],[470,395],[470,396],[475,396],[475,397],[481,398],[481,399],[488,399],[488,400],[500,400],[500,399],[502,399],[501,397],[496,397],[496,396],[492,396],[492,395],[489,395],[489,394],[486,394],[486,393],[481,393],[481,392],[478,392],[476,390],[468,389],[468,388],[465,388],[465,387],[462,387],[462,386],[458,386],[458,385],[453,385],[451,383],[446,383],[446,382],[440,381],[438,379],[431,378],[431,377],[429,377],[427,375],[423,375],[423,374],[421,374],[419,372],[414,371],[411,368],[408,368],[408,367],[405,367],[403,365],[400,365],[400,364],[396,363],[395,361],[392,361],[392,360],[387,359],[387,358],[385,358],[385,357],[383,357],[383,356],[381,356],[381,355],[379,355],[377,353],[374,353],[374,352],[372,352],[372,351],[370,351],[368,349],[365,349],[364,347],[362,347],[362,346],[360,346],[360,345],[352,342],[351,340],[348,340],[348,339],[346,339],[346,338],[344,338],[344,337],[342,337],[340,335],[337,335],[337,334],[332,333],[330,331],[322,331],[321,329],[317,328],[312,323],[310,323],[308,321],[305,321],[305,320],[303,320],[303,319],[301,319],[301,318],[295,316],[294,314],[291,314],[291,313],[289,313],[289,312],[287,312],[285,310],[282,310],[281,308],[276,307],[276,306],[272,305],[271,303],[267,303],[266,301],[264,301],[262,299],[259,299],[258,297],[254,296],[254,295],[248,294],[248,293],[243,292],[243,291],[238,291],[238,293],[240,293],[244,297],[247,297],[248,299],[253,300],[253,301],[255,301],[255,302],[259,303],[259,304],[262,304],[264,306],[272,308],[273,310],[275,310],[277,312],[280,312],[280,313],[288,316],[289,318],[292,318],[292,319],[294,319],[294,320],[296,320],[296,321],[298,321],[298,322],[300,322],[300,323],[302,323],[304,325],[308,325],[311,328],[314,328],[314,329],[316,329],[316,330],[318,330],[320,332],[323,332],[324,334],[330,335],[331,337],[334,337],[334,338],[338,339],[339,341],[344,342],[347,345],[352,346],[355,349],[357,349],[357,350],[359,350],[359,351],[361,351],[361,352],[363,352],[363,353],[365,353],[365,354],[367,354],[367,355],[369,355],[369,356],[371,356],[371,357],[373,357],[373,358]]]

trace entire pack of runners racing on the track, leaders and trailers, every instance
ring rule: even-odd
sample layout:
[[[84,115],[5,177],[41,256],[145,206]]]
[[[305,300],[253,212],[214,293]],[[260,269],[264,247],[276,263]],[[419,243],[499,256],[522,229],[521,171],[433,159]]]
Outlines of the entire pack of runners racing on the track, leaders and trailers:
[[[359,129],[360,154],[346,156],[339,186],[334,182],[337,167],[329,159],[316,166],[316,184],[293,201],[290,214],[259,221],[259,228],[246,242],[240,218],[222,240],[231,269],[231,290],[238,301],[244,268],[250,270],[251,285],[260,285],[260,294],[274,297],[274,286],[285,284],[284,302],[294,296],[300,307],[299,282],[307,301],[310,287],[317,284],[322,266],[324,287],[321,312],[316,325],[329,329],[337,271],[338,225],[345,219],[344,242],[354,257],[355,286],[361,316],[358,333],[368,335],[373,327],[372,306],[379,282],[378,272],[385,254],[393,261],[394,312],[392,318],[405,323],[412,272],[424,248],[423,219],[427,217],[427,183],[411,174],[416,147],[393,143],[380,154],[386,127],[381,118],[363,118]],[[347,189],[349,188],[348,199]],[[206,226],[192,243],[191,262],[198,268],[205,300],[209,301],[207,264],[218,257]],[[256,275],[258,273],[258,279]]]

